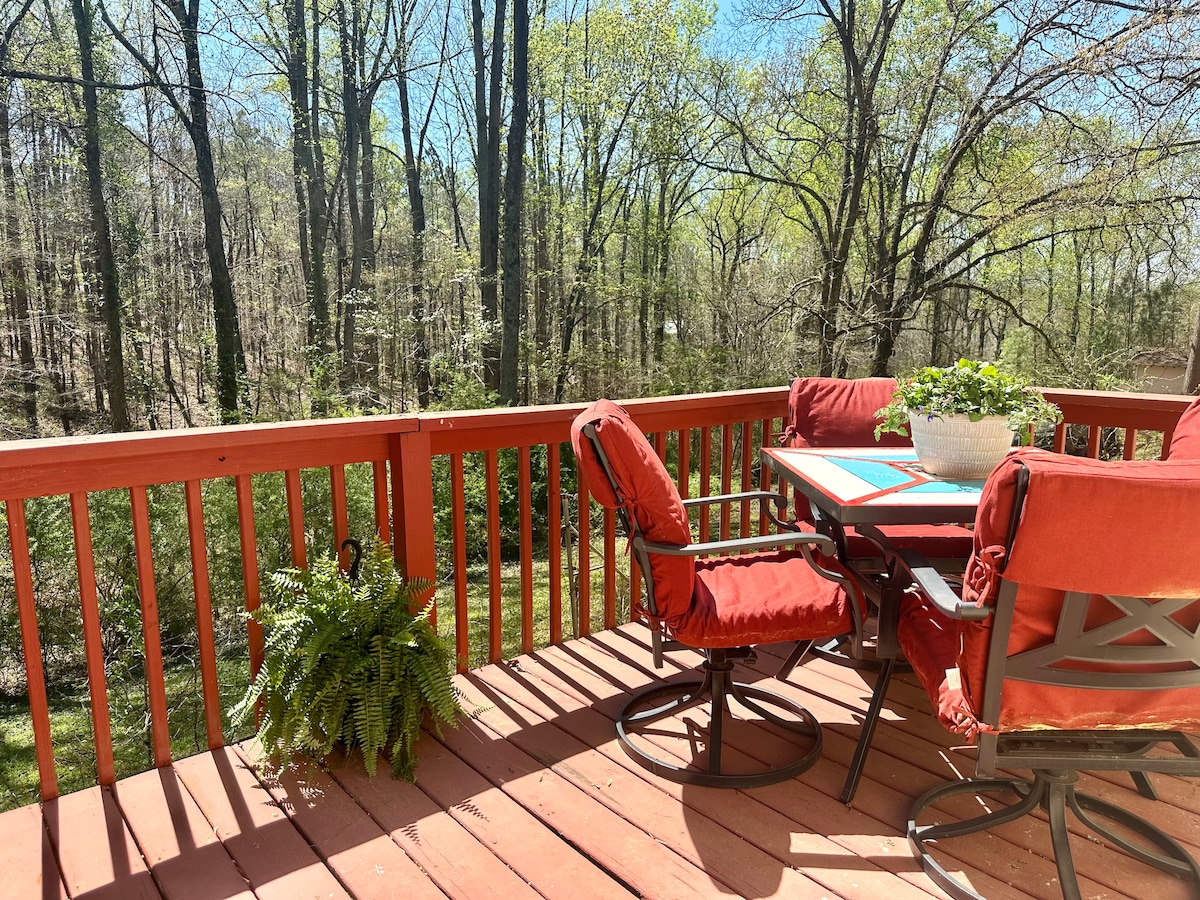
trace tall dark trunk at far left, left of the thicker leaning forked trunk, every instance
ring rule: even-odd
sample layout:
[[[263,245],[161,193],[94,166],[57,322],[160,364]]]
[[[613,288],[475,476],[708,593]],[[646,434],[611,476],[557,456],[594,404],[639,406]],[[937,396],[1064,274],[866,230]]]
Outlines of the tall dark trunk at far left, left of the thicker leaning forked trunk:
[[[128,431],[130,414],[125,396],[125,352],[121,343],[121,286],[113,253],[109,230],[108,206],[100,166],[100,102],[96,95],[96,76],[92,64],[92,11],[89,0],[71,0],[76,35],[79,38],[79,62],[83,76],[84,109],[84,169],[88,174],[88,205],[91,212],[92,263],[95,286],[101,299],[101,319],[104,323],[104,380],[108,388],[108,408],[113,431]],[[95,359],[101,352],[94,349]],[[102,406],[97,395],[97,406]]]

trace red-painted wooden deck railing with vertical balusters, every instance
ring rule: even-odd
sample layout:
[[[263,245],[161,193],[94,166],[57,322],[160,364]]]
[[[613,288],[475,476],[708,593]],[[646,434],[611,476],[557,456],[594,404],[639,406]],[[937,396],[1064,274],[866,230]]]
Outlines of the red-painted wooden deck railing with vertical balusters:
[[[1120,428],[1123,430],[1122,454],[1127,458],[1138,448],[1138,432],[1162,432],[1164,448],[1169,445],[1175,422],[1189,401],[1187,397],[1088,391],[1046,390],[1045,394],[1060,403],[1068,424],[1086,426],[1090,455],[1100,452],[1102,438],[1111,433],[1105,430]],[[659,456],[677,473],[679,490],[685,496],[730,492],[757,485],[766,476],[758,469],[757,448],[772,443],[779,433],[786,403],[786,388],[624,402],[643,431],[652,436]],[[94,546],[89,498],[113,490],[128,496],[128,528],[136,554],[136,584],[130,588],[136,592],[140,610],[150,757],[155,766],[164,766],[172,760],[172,748],[160,644],[156,576],[161,572],[156,572],[154,538],[163,528],[178,526],[186,530],[194,598],[192,625],[199,658],[206,744],[217,748],[232,737],[224,733],[222,725],[210,580],[212,535],[205,528],[203,487],[215,480],[233,482],[240,587],[247,610],[256,608],[259,602],[260,578],[264,575],[260,558],[264,557],[265,545],[278,554],[278,545],[282,544],[282,556],[290,564],[304,566],[311,552],[336,552],[350,535],[347,470],[352,467],[355,472],[368,472],[372,527],[382,540],[392,542],[398,563],[410,576],[431,580],[440,576],[438,602],[442,616],[454,620],[460,668],[466,668],[472,659],[496,661],[502,658],[503,624],[509,616],[520,617],[516,649],[521,653],[529,652],[535,643],[560,642],[564,638],[564,583],[576,592],[576,610],[569,617],[575,623],[572,630],[588,632],[595,605],[599,606],[601,614],[598,618],[602,626],[616,625],[620,607],[618,576],[628,572],[625,589],[630,599],[636,596],[640,581],[636,570],[628,569],[632,563],[624,547],[618,545],[612,514],[593,514],[586,485],[575,484],[569,445],[564,458],[563,445],[569,442],[570,422],[578,409],[578,404],[568,404],[0,444],[0,500],[4,500],[8,538],[7,546],[0,539],[0,560],[7,559],[11,566],[11,584],[6,587],[14,596],[19,612],[24,680],[41,797],[56,797],[59,782],[38,631],[42,598],[35,588],[34,575],[38,571],[38,546],[30,540],[26,516],[31,500],[65,498],[70,506],[76,560],[73,583],[82,617],[96,781],[112,784],[116,770],[96,583],[97,548]],[[1066,446],[1067,428],[1060,426],[1055,449],[1061,451]],[[535,449],[539,458],[545,458],[545,492],[538,492],[536,510],[532,475]],[[503,601],[503,583],[509,576],[500,552],[502,538],[506,535],[500,533],[499,454],[509,450],[516,451],[516,578],[520,600],[515,606],[506,606]],[[486,586],[478,588],[468,578],[468,503],[479,502],[478,493],[468,500],[464,486],[468,460],[473,468],[481,463],[485,485],[482,503],[486,510],[482,516],[486,521],[487,576]],[[305,473],[311,484],[313,469],[328,473],[320,476],[328,478],[328,508],[306,510],[301,475]],[[278,499],[282,510],[264,510],[264,502],[271,498],[264,498],[253,479],[265,473],[282,474],[283,490]],[[182,486],[182,512],[178,523],[155,521],[148,488],[157,485]],[[577,510],[589,511],[588,515],[576,516],[575,540],[580,560],[570,568],[564,565],[562,544],[564,488],[569,491],[569,498],[574,494]],[[505,492],[505,496],[510,494]],[[437,545],[436,496],[449,497],[449,546]],[[256,512],[259,520],[266,517],[286,522],[286,536],[265,534],[262,527],[256,528]],[[534,533],[535,512],[544,522],[539,535]],[[701,518],[697,523],[700,539],[709,539],[713,530],[725,538],[734,527],[742,535],[764,527],[762,521],[752,522],[749,514],[746,505],[734,510],[733,515],[722,514],[715,522]],[[325,520],[320,522],[322,527],[314,528],[313,523],[322,518]],[[478,518],[478,512],[472,510],[472,520]],[[593,530],[596,533],[593,534]],[[312,535],[317,532],[325,535],[323,540],[328,540],[328,546],[313,546]],[[547,572],[548,601],[542,606],[548,628],[535,623],[535,554]],[[593,554],[599,557],[599,580],[593,577]],[[593,592],[596,587],[601,592],[599,598]],[[487,598],[486,654],[482,647],[472,646],[469,610],[472,598],[484,592]],[[542,630],[541,641],[535,641],[535,625]],[[262,634],[253,623],[246,629],[246,646],[253,670],[259,665],[263,652]]]

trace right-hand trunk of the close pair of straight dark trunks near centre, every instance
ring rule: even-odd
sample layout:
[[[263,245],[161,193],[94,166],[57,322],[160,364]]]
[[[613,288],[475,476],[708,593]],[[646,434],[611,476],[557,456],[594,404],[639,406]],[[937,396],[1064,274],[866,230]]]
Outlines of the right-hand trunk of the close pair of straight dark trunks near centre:
[[[512,116],[504,174],[504,312],[500,341],[500,400],[516,406],[521,355],[521,218],[524,206],[524,148],[529,121],[529,0],[512,0]]]

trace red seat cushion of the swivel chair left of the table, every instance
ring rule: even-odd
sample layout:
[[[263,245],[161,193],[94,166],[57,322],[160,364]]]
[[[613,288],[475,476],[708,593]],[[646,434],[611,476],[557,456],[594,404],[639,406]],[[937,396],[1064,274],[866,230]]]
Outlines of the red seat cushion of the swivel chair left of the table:
[[[844,635],[850,595],[796,552],[746,553],[696,563],[691,608],[668,623],[690,647],[742,647]]]

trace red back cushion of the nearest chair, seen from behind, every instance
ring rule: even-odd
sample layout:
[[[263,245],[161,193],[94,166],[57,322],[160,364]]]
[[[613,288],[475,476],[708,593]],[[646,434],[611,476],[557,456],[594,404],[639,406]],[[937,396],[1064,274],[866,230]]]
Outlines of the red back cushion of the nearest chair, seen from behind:
[[[1008,548],[1022,467],[1028,486]],[[1194,602],[1165,600],[1171,605],[1158,607],[1172,611],[1165,619],[1154,608],[1171,598]],[[1156,673],[1194,679],[1200,671],[1200,460],[1102,462],[1018,451],[985,486],[964,600],[1015,604],[1008,665],[1012,671],[1013,658],[1028,654],[1020,662],[1028,680],[1003,682],[1000,731],[1200,724],[1200,686],[1132,686]],[[976,715],[991,631],[992,619],[961,626],[958,664]],[[1039,655],[1052,661],[1038,662]],[[1036,662],[1111,673],[1110,685],[1120,676],[1133,680],[1122,690],[1100,689],[1104,679],[1096,688],[1049,684],[1074,676],[1030,676]]]

